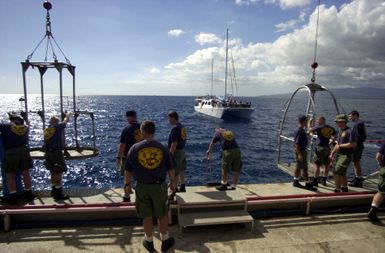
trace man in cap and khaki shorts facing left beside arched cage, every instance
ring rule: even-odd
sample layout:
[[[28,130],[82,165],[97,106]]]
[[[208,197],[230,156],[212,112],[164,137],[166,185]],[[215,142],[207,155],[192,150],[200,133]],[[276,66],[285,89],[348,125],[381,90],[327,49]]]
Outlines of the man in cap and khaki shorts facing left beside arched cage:
[[[335,167],[333,171],[335,189],[334,192],[348,192],[348,180],[346,171],[352,161],[354,148],[357,146],[357,135],[347,126],[348,117],[345,114],[337,115],[335,122],[339,129],[337,136],[337,144],[334,146],[330,154],[330,160],[335,159]]]

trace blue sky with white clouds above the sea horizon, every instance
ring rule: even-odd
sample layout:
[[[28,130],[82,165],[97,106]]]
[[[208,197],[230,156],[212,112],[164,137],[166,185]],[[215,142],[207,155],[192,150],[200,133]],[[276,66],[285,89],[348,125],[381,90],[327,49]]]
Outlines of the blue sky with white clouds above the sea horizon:
[[[23,92],[20,62],[45,34],[43,2],[0,0],[1,94]],[[311,79],[317,0],[50,2],[53,36],[76,66],[79,95],[205,95],[212,59],[214,90],[223,95],[227,28],[237,79],[230,92],[287,93]],[[385,1],[321,0],[319,11],[316,81],[385,88]],[[31,60],[44,53],[43,45]],[[40,92],[36,69],[27,81],[29,92]],[[58,93],[57,72],[45,74],[45,92]]]

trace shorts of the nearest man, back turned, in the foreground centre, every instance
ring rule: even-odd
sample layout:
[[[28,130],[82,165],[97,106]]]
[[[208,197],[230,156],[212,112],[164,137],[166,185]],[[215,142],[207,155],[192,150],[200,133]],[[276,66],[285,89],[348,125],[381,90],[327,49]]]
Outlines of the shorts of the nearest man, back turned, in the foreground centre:
[[[162,218],[168,211],[167,184],[137,184],[135,207],[140,218]]]

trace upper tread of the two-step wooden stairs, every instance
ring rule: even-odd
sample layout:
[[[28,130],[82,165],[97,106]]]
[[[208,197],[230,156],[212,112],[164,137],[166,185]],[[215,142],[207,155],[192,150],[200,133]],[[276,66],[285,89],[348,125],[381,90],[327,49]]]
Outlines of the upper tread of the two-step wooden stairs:
[[[231,203],[246,202],[245,195],[240,191],[188,191],[177,193],[176,200],[178,204],[213,204],[213,203]]]

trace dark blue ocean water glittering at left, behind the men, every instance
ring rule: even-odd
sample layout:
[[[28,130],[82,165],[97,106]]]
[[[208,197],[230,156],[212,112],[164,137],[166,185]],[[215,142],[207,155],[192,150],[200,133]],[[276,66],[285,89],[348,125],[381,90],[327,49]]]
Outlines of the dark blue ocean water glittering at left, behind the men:
[[[6,112],[18,111],[21,103],[18,95],[0,95],[0,121],[7,122]],[[30,110],[41,108],[40,97],[28,97]],[[194,97],[165,97],[165,96],[80,96],[77,97],[77,107],[80,110],[93,111],[96,123],[96,143],[99,156],[84,160],[68,161],[68,172],[64,175],[66,187],[120,187],[122,178],[115,165],[115,157],[121,130],[125,127],[125,111],[134,109],[138,119],[151,119],[156,123],[156,139],[167,144],[170,125],[167,112],[175,109],[181,122],[187,128],[187,183],[201,185],[207,181],[220,180],[221,163],[220,149],[216,146],[213,154],[213,171],[209,172],[209,163],[205,158],[208,144],[219,124],[235,133],[241,147],[243,170],[241,183],[270,183],[288,182],[291,177],[279,170],[275,164],[277,131],[282,109],[288,96],[253,97],[249,98],[255,108],[250,121],[222,121],[194,112]],[[334,126],[336,112],[331,100],[325,97],[316,98],[316,111],[325,115],[329,124]],[[59,112],[59,99],[56,96],[46,97],[47,118]],[[385,117],[383,108],[385,100],[341,99],[339,103],[346,112],[357,109],[368,128],[368,139],[384,139]],[[288,114],[284,132],[291,136],[296,127],[296,117],[304,113],[307,99],[303,96],[296,98]],[[64,98],[65,110],[71,111],[72,102]],[[30,114],[31,146],[42,145],[42,123],[36,113]],[[81,145],[92,143],[91,121],[87,117],[78,120]],[[70,122],[66,131],[68,145],[74,143],[73,123]],[[374,161],[379,144],[368,143],[364,152],[362,165],[365,174],[377,169]],[[284,143],[283,158],[293,160],[292,143]],[[349,169],[352,175],[353,169]],[[34,187],[49,188],[49,173],[42,161],[35,160],[31,170]]]

